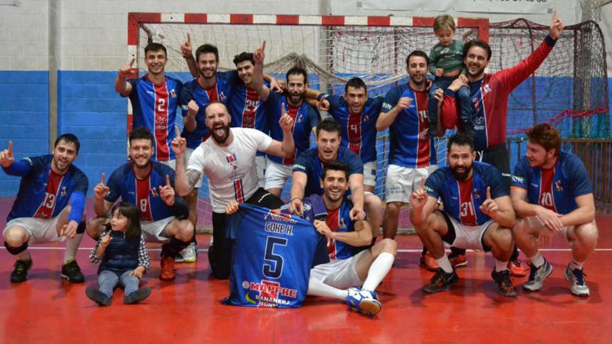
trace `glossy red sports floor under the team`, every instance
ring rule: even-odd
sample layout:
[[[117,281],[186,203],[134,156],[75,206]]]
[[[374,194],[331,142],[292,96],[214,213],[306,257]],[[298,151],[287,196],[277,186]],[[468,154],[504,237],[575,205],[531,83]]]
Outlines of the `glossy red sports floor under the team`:
[[[554,265],[540,293],[519,290],[518,297],[497,294],[490,277],[493,261],[468,252],[468,266],[450,292],[424,295],[433,275],[419,268],[416,236],[399,236],[395,268],[378,288],[383,310],[369,319],[346,311],[335,300],[308,298],[301,309],[252,309],[225,306],[228,282],[210,276],[205,248],[210,236],[198,236],[196,263],[177,264],[177,279],[162,282],[159,251],[143,279],[152,288],[142,304],[99,307],[85,288],[97,282],[88,262],[94,245],[85,238],[77,260],[86,284],[60,277],[63,244],[31,249],[29,280],[10,284],[13,259],[0,250],[0,343],[610,343],[612,341],[612,215],[598,215],[597,252],[585,266],[590,297],[570,295],[563,270],[570,252],[556,238],[544,252]],[[3,225],[3,223],[0,223]],[[524,256],[521,257],[524,260]],[[515,279],[520,287],[525,279]]]

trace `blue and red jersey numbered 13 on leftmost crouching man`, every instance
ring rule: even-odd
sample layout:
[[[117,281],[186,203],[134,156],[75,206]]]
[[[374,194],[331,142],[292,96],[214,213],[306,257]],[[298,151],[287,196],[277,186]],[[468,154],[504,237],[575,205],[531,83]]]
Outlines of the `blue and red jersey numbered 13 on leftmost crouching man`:
[[[57,174],[51,170],[52,160],[51,154],[24,158],[13,163],[22,167],[19,173],[11,173],[10,167],[3,167],[7,174],[22,177],[7,222],[15,218],[54,218],[68,205],[70,197],[73,200],[68,218],[81,221],[89,183],[87,176],[74,165],[70,165],[65,174]],[[76,198],[80,198],[83,204],[74,206]]]

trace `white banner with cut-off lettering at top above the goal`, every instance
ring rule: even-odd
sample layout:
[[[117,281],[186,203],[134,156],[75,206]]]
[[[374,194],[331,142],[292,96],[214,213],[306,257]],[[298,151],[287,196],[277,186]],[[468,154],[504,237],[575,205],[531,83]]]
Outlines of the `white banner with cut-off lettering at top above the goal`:
[[[553,0],[362,0],[367,10],[432,10],[481,13],[548,13]]]

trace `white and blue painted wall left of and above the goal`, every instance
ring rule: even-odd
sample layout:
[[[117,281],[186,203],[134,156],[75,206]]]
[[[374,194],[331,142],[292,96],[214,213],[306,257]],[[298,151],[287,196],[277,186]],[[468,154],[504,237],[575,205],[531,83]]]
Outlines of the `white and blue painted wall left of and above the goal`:
[[[117,69],[127,62],[129,12],[440,14],[363,10],[360,2],[1,0],[0,44],[3,49],[0,49],[0,95],[3,95],[3,101],[0,102],[0,147],[5,148],[8,140],[13,140],[16,158],[49,151],[48,114],[56,112],[57,119],[53,121],[57,124],[58,133],[72,132],[81,139],[76,165],[88,174],[90,193],[102,172],[109,174],[124,163],[127,100],[115,93],[113,82]],[[556,0],[554,4],[565,22],[571,24],[579,21],[579,11],[573,0]],[[516,17],[483,13],[451,14],[488,16],[492,22]],[[549,22],[549,15],[525,17],[536,22]],[[51,99],[49,94],[53,95]],[[17,188],[17,178],[0,173],[0,196],[14,195]]]

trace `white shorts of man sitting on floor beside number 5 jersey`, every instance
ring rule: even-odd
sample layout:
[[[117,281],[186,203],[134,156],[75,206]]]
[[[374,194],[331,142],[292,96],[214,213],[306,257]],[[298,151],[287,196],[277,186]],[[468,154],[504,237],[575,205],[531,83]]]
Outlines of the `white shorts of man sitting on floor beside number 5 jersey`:
[[[367,250],[348,259],[332,259],[329,263],[316,265],[310,270],[310,278],[338,289],[362,286],[363,281],[357,275],[355,266],[360,256],[365,252]]]

